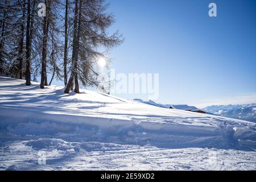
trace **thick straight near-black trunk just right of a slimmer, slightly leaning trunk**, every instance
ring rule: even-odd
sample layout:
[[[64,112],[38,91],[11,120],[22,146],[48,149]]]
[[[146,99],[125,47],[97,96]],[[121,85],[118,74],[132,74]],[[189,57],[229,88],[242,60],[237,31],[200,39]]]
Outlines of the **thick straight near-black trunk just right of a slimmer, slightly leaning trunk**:
[[[31,85],[30,77],[30,0],[27,0],[26,85]]]

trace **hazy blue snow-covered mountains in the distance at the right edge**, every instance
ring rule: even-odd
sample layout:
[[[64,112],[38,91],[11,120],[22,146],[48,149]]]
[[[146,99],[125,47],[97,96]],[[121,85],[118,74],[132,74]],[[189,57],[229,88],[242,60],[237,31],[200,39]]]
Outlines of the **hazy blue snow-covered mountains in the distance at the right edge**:
[[[256,104],[212,105],[203,108],[203,110],[228,118],[256,122]]]

